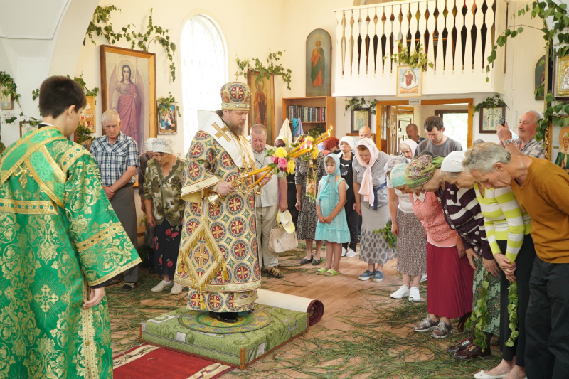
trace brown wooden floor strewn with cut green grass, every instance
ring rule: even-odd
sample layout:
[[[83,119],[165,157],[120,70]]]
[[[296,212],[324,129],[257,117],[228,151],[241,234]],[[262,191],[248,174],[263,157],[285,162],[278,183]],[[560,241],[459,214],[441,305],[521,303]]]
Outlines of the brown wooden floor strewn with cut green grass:
[[[400,274],[395,269],[396,260],[385,265],[385,279],[383,282],[376,283],[371,280],[365,282],[358,280],[359,274],[367,269],[367,265],[361,262],[357,256],[341,258],[341,274],[335,277],[323,277],[314,274],[315,269],[324,267],[324,263],[318,267],[299,265],[299,260],[303,256],[302,251],[283,255],[280,258],[280,269],[285,272],[285,277],[275,279],[264,274],[262,288],[319,299],[324,303],[324,316],[321,321],[311,326],[309,332],[304,336],[287,343],[275,353],[253,363],[246,370],[231,370],[220,378],[472,378],[472,375],[479,370],[489,369],[499,362],[500,353],[496,351],[495,346],[493,348],[495,358],[491,361],[480,360],[461,363],[450,358],[445,353],[445,349],[456,341],[465,338],[465,333],[455,331],[450,338],[445,340],[435,340],[430,336],[425,336],[425,334],[430,333],[415,333],[413,325],[425,318],[427,314],[426,301],[408,305],[407,299],[391,299],[389,297],[389,294],[401,285]],[[156,278],[156,284],[158,282],[159,280]],[[151,298],[151,294],[150,292],[149,298]],[[422,297],[426,297],[426,286],[421,289],[421,294]],[[168,299],[166,294],[161,299],[164,299],[164,296]],[[183,306],[185,299],[181,295],[178,297],[169,296],[168,306],[173,304]],[[144,305],[146,308],[155,305],[160,309],[164,305],[164,300],[146,299]],[[112,306],[110,308],[112,325],[116,327],[120,321],[113,319]],[[395,327],[393,320],[390,321],[390,324],[385,324],[384,316],[387,314],[387,310],[398,308],[410,309],[413,316],[410,319],[403,317],[403,319],[398,320]],[[385,314],[383,310],[385,310]],[[148,314],[150,318],[156,315],[156,312],[150,311]],[[413,351],[413,353],[399,355],[398,359],[404,362],[401,363],[400,369],[392,368],[388,370],[389,373],[382,372],[381,367],[366,367],[368,372],[361,373],[361,370],[358,370],[358,373],[355,373],[351,372],[350,367],[356,367],[354,362],[357,363],[360,356],[366,355],[356,351],[358,349],[357,343],[353,346],[354,351],[341,352],[338,356],[334,356],[334,354],[328,356],[319,349],[319,344],[326,343],[326,338],[328,338],[327,343],[332,343],[328,346],[334,346],[334,341],[329,341],[330,338],[341,338],[342,334],[345,333],[346,339],[349,339],[356,329],[362,333],[362,326],[367,328],[363,329],[364,338],[366,336],[378,338],[380,351],[383,350],[380,341],[381,333],[389,332],[393,333],[393,336],[404,338],[401,341],[409,341],[409,345],[415,346],[407,350]],[[112,329],[116,338],[113,326]],[[129,336],[125,338],[129,338]],[[416,345],[421,343],[423,346],[417,348]],[[402,346],[404,344],[406,343],[402,343]],[[124,346],[121,347],[124,348]],[[116,347],[113,346],[113,351],[116,354],[119,351],[115,349]],[[392,346],[390,348],[390,351],[396,352],[397,350],[397,347],[393,348]],[[320,352],[318,353],[319,356],[315,356],[316,351]],[[388,348],[385,348],[385,351],[388,351]],[[349,356],[347,360],[346,356],[343,356],[346,354]],[[393,363],[393,360],[389,362]],[[404,364],[405,362],[408,364]],[[434,364],[437,362],[440,363],[439,366]],[[362,362],[362,364],[365,365],[366,363]],[[385,367],[387,364],[388,361],[385,361]],[[381,363],[375,363],[375,365],[380,366]],[[334,374],[336,366],[337,375]],[[435,369],[430,370],[431,366]],[[461,367],[460,373],[455,374],[454,368],[459,366]],[[438,372],[437,367],[440,367],[440,372]],[[319,368],[326,369],[319,370]]]

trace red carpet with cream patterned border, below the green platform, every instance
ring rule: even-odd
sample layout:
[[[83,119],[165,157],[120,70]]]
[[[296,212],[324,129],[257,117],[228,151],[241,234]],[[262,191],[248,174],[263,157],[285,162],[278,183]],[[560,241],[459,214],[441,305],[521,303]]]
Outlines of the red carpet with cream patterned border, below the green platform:
[[[113,359],[113,368],[115,379],[213,379],[231,369],[151,345],[119,354]]]

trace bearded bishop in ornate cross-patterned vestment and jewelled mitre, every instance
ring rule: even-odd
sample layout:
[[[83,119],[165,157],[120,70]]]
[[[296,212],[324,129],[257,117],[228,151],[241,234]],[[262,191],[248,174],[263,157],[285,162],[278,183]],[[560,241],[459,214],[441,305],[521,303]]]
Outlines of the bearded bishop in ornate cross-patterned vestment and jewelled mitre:
[[[245,189],[253,178],[245,186],[233,182],[255,169],[243,136],[250,94],[247,85],[229,82],[221,89],[222,110],[201,114],[181,192],[186,210],[174,280],[190,287],[188,309],[208,309],[223,322],[252,310],[261,286],[255,196]]]

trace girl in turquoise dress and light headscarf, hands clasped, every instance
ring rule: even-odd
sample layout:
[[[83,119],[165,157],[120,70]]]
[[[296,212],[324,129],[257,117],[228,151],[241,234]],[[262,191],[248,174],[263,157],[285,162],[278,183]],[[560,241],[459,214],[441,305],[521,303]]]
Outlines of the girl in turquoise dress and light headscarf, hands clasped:
[[[317,270],[316,274],[333,277],[340,273],[342,243],[350,240],[344,211],[348,186],[340,174],[339,156],[328,154],[324,166],[328,175],[321,178],[318,185],[318,224],[314,239],[326,241],[326,268]]]

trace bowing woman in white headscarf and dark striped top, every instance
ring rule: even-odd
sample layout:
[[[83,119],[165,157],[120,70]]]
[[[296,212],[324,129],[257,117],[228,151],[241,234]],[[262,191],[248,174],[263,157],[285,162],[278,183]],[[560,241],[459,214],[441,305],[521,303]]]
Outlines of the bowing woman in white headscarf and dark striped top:
[[[447,223],[451,228],[454,227],[462,237],[464,250],[474,269],[472,309],[478,309],[478,300],[482,296],[482,282],[484,280],[489,282],[486,289],[488,292],[487,314],[484,316],[486,327],[483,330],[486,348],[474,344],[473,330],[469,338],[447,349],[449,353],[454,354],[454,358],[461,361],[491,356],[490,339],[492,335],[500,335],[500,283],[497,279],[499,268],[492,256],[489,240],[486,237],[484,215],[482,215],[481,205],[474,191],[474,178],[464,171],[462,166],[464,154],[464,151],[452,151],[445,157],[440,171],[441,189],[435,191],[442,203],[442,209],[445,210]],[[491,274],[487,279],[486,272]]]

